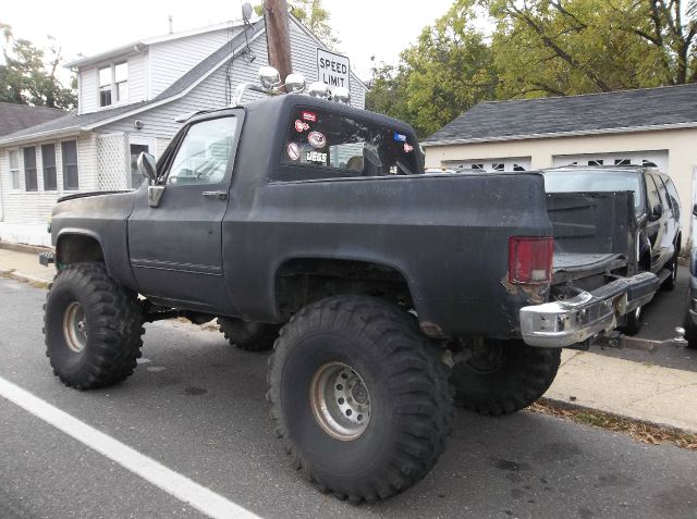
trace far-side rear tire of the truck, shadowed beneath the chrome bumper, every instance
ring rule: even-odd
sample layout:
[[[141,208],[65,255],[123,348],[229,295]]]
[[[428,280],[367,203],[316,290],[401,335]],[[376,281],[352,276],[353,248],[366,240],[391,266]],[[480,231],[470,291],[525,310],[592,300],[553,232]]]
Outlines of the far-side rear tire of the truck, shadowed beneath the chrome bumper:
[[[560,348],[536,348],[523,341],[487,341],[453,366],[455,405],[480,415],[509,415],[537,401],[552,384]]]

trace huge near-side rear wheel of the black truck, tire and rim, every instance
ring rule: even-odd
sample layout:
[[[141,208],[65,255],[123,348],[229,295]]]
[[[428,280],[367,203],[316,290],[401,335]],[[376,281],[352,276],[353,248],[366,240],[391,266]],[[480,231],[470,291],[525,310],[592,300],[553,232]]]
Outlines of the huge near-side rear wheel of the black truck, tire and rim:
[[[305,307],[281,330],[267,397],[294,467],[353,503],[424,478],[452,412],[438,349],[408,314],[359,296]]]

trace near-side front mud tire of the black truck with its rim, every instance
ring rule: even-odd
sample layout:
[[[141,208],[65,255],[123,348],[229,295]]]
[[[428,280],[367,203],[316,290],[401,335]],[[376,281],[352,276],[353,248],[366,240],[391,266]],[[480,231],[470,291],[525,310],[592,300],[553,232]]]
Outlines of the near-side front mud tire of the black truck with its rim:
[[[58,272],[44,305],[46,355],[53,374],[76,390],[122,382],[136,368],[143,341],[137,295],[115,283],[102,263]]]

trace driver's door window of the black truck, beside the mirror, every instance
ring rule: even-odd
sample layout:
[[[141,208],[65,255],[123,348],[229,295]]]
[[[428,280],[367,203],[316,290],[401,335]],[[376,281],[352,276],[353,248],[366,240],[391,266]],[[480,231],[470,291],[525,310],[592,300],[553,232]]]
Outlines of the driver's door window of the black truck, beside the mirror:
[[[168,184],[218,184],[225,176],[237,129],[234,116],[192,124],[170,168]]]

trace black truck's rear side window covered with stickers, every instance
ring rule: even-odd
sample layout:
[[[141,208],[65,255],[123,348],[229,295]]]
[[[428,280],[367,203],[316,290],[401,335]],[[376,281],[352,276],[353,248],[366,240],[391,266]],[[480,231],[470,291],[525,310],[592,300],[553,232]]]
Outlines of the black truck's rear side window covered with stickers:
[[[420,173],[418,143],[379,124],[299,108],[293,112],[283,145],[285,165],[308,177],[381,176]]]

